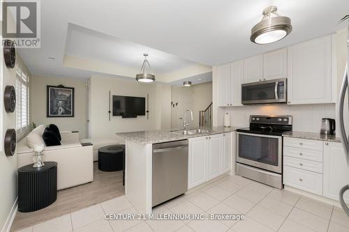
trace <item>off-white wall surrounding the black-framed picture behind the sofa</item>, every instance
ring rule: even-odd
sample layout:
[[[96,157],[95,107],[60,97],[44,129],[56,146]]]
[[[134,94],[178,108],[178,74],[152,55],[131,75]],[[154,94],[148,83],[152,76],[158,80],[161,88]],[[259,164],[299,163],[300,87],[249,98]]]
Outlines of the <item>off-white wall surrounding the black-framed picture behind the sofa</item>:
[[[74,89],[74,117],[66,118],[47,118],[47,85],[57,86],[64,85],[66,87],[73,87]],[[56,124],[59,130],[78,130],[80,132],[80,139],[85,138],[86,121],[87,121],[87,91],[86,80],[67,78],[67,77],[39,77],[31,78],[31,122],[36,125],[48,125],[50,123]]]

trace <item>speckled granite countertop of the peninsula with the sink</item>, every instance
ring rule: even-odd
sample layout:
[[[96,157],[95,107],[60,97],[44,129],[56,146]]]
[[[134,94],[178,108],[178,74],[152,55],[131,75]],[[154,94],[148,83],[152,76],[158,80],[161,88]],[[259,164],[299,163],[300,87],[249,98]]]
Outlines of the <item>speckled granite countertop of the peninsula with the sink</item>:
[[[241,127],[210,127],[200,128],[202,130],[209,130],[207,133],[198,134],[177,134],[173,130],[147,130],[138,132],[120,132],[117,135],[123,139],[134,141],[138,144],[158,144],[167,141],[176,141],[182,139],[189,139],[195,137],[204,137],[212,134],[223,134],[226,132],[233,132]],[[172,132],[170,132],[172,131]]]

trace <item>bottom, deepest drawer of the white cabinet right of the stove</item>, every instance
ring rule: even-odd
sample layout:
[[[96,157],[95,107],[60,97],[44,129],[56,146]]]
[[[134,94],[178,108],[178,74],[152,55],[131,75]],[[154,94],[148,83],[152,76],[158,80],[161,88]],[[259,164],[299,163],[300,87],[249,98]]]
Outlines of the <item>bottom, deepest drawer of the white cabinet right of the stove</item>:
[[[322,195],[322,174],[283,166],[283,184]]]

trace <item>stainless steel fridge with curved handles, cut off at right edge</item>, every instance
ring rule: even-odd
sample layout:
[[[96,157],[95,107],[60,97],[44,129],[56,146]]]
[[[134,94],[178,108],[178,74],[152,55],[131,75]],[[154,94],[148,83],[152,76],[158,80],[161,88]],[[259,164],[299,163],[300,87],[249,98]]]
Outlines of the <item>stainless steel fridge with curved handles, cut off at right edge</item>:
[[[344,127],[344,120],[343,120],[343,114],[344,114],[344,110],[343,110],[343,106],[344,106],[344,98],[346,97],[346,91],[348,88],[348,82],[349,82],[349,75],[348,75],[348,70],[349,70],[349,33],[348,33],[348,43],[347,43],[347,63],[346,63],[346,71],[344,72],[344,77],[343,77],[343,82],[342,82],[342,86],[341,86],[341,91],[339,93],[339,101],[338,101],[338,119],[339,119],[339,134],[341,136],[341,144],[344,148],[344,153],[346,154],[346,161],[347,161],[347,165],[349,165],[349,141],[348,141],[348,137],[346,134],[346,130]],[[349,98],[349,94],[348,94],[348,98]],[[344,174],[344,173],[343,173]],[[346,202],[343,199],[343,194],[349,191],[349,183],[348,185],[344,185],[341,188],[341,191],[339,192],[339,201],[341,202],[341,206],[344,210],[344,212],[346,212],[346,214],[349,217],[349,208],[348,206],[346,206]]]

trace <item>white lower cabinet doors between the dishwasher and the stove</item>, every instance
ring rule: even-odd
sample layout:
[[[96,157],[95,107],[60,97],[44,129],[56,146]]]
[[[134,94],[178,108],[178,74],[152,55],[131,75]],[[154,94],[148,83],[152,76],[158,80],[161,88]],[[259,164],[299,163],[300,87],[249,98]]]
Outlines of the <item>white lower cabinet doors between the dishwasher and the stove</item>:
[[[188,139],[188,188],[230,171],[231,133]]]

